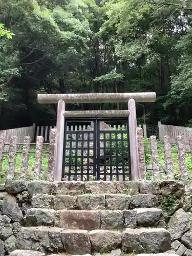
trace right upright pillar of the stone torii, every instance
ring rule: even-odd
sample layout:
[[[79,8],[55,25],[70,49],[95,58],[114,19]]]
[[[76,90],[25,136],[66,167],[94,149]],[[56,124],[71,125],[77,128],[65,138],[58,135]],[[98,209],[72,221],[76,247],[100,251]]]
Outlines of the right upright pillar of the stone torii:
[[[130,155],[131,155],[131,175],[132,180],[139,179],[138,169],[138,148],[137,148],[137,115],[135,100],[128,101],[129,115],[129,136],[130,136]]]

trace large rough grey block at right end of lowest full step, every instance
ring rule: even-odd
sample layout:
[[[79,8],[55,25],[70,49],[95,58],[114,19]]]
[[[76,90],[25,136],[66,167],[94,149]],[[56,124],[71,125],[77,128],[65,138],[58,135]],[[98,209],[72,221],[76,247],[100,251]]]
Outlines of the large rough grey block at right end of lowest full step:
[[[158,253],[170,249],[170,234],[164,228],[127,228],[122,234],[125,252]]]

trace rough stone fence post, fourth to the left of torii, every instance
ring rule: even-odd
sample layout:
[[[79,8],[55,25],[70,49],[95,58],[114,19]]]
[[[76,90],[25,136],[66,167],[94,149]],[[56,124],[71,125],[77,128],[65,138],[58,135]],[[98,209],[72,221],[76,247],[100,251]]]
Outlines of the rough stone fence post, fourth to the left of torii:
[[[15,160],[17,151],[17,137],[12,136],[9,147],[9,167],[7,170],[7,180],[12,180],[15,173]]]

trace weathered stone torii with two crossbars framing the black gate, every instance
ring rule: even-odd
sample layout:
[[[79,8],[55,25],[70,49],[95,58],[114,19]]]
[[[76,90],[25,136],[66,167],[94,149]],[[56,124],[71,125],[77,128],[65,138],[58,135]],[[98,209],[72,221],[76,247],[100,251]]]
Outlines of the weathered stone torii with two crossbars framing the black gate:
[[[135,102],[155,102],[156,93],[79,93],[38,94],[39,103],[58,103],[57,140],[54,181],[61,181],[65,117],[129,117],[130,155],[132,180],[139,179],[137,148],[137,116]],[[66,103],[128,102],[128,110],[66,111]]]

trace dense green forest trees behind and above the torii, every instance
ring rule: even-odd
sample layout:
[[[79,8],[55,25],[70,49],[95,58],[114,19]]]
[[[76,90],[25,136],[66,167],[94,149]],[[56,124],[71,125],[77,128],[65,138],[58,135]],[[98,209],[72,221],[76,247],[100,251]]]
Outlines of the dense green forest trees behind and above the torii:
[[[0,129],[52,124],[56,105],[37,93],[75,92],[155,91],[140,122],[191,125],[191,14],[187,0],[2,0]]]

